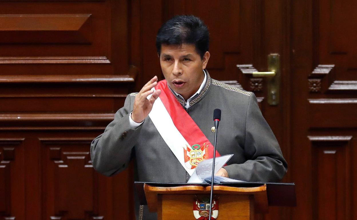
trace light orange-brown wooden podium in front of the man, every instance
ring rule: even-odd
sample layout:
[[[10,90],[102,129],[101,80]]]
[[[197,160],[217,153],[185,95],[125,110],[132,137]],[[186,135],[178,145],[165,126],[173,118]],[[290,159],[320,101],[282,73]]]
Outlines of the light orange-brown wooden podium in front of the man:
[[[211,186],[202,185],[162,187],[144,184],[149,211],[157,212],[158,220],[195,220],[195,202],[202,196],[209,200],[210,190]],[[256,187],[215,185],[213,195],[218,201],[218,220],[253,220],[255,212],[268,211],[266,184]],[[202,214],[206,212],[201,211]]]

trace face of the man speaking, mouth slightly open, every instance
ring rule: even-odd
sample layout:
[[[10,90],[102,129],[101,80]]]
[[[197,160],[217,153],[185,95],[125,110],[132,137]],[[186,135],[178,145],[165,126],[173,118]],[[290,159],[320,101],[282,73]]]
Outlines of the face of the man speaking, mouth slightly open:
[[[185,100],[190,98],[203,81],[210,53],[203,58],[196,52],[195,45],[161,45],[160,65],[167,84]]]

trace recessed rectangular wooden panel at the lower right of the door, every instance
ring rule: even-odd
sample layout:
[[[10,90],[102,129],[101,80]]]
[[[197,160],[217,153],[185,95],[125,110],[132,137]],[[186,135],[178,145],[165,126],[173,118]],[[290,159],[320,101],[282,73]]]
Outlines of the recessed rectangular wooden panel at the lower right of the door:
[[[309,136],[314,219],[351,218],[352,136]]]

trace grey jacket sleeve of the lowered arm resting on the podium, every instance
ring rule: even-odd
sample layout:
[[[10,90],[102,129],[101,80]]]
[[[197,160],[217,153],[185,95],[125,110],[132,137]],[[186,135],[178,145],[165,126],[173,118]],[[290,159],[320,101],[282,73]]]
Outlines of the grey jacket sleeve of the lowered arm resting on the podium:
[[[245,163],[224,167],[230,178],[276,182],[287,172],[287,163],[275,135],[262,116],[254,93],[247,108],[244,153]]]

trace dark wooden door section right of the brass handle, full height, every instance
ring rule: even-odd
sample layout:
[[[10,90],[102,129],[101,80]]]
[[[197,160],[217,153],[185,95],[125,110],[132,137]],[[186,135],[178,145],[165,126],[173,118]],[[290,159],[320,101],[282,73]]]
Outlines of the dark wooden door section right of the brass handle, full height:
[[[291,1],[292,219],[357,219],[356,1]]]

